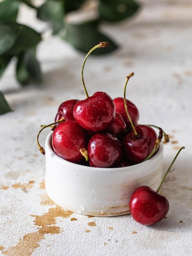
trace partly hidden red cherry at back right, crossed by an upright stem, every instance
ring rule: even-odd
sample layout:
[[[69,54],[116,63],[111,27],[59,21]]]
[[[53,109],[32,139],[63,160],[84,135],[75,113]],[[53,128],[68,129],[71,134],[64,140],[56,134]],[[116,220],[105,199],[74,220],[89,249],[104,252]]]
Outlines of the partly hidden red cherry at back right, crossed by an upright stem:
[[[119,113],[123,117],[123,120],[125,121],[127,128],[129,128],[131,124],[127,117],[127,113],[125,111],[124,99],[116,98],[114,99],[114,103],[115,103],[116,113]],[[134,105],[134,103],[132,103],[128,99],[126,99],[126,104],[127,104],[127,108],[129,110],[129,115],[130,115],[130,118],[132,119],[132,122],[134,124],[137,124],[139,119],[139,113],[138,113],[137,107]]]

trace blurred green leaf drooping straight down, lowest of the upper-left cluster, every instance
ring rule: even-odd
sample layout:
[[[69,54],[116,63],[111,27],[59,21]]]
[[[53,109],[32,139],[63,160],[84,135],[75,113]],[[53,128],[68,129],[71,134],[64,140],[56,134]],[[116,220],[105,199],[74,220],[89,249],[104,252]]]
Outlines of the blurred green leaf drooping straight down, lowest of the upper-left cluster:
[[[40,65],[36,59],[35,49],[29,49],[18,56],[16,77],[20,84],[25,85],[29,81],[42,82]]]

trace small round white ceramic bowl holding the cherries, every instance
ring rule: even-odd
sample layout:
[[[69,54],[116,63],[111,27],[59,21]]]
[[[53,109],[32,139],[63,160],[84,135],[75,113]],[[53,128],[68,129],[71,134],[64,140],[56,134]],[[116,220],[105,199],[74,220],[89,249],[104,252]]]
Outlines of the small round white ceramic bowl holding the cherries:
[[[47,194],[61,207],[90,216],[130,213],[129,199],[139,186],[156,190],[163,176],[163,144],[146,162],[122,168],[73,164],[54,153],[52,132],[45,142]]]

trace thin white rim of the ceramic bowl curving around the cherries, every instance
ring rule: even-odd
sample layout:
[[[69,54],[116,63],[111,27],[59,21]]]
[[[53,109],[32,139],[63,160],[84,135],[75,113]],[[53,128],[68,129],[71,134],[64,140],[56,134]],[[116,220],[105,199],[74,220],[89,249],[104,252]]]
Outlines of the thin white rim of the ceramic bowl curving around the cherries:
[[[123,171],[123,170],[126,170],[126,171],[130,171],[130,172],[134,172],[136,171],[136,167],[137,166],[141,166],[143,165],[143,168],[147,167],[147,164],[149,164],[149,162],[152,162],[152,161],[155,161],[157,158],[159,158],[159,156],[163,153],[163,142],[161,141],[161,143],[159,144],[159,149],[157,151],[157,153],[151,157],[150,159],[148,159],[147,161],[145,162],[141,162],[139,164],[134,164],[134,165],[131,165],[131,166],[125,166],[125,167],[114,167],[114,168],[101,168],[101,167],[91,167],[91,166],[84,166],[84,165],[81,165],[81,164],[75,164],[75,163],[72,163],[72,162],[69,162],[65,159],[63,159],[62,157],[59,157],[53,150],[53,148],[51,147],[51,139],[52,139],[52,135],[53,135],[53,131],[49,132],[49,134],[47,135],[46,137],[46,140],[45,140],[45,148],[48,148],[50,151],[51,151],[51,154],[54,154],[54,158],[56,158],[56,160],[62,162],[63,164],[70,164],[72,166],[79,166],[80,168],[85,168],[85,169],[89,169],[91,168],[92,171],[100,171],[100,172],[120,172],[120,171]],[[46,155],[46,149],[45,149],[45,155]]]

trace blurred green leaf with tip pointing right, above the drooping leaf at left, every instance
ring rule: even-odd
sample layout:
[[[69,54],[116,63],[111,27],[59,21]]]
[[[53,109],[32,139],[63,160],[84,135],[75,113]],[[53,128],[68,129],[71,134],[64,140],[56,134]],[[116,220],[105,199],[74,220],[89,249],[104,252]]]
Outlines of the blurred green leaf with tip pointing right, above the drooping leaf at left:
[[[35,47],[41,40],[41,35],[30,27],[12,23],[11,28],[18,31],[18,37],[7,54],[18,55],[29,48]]]

